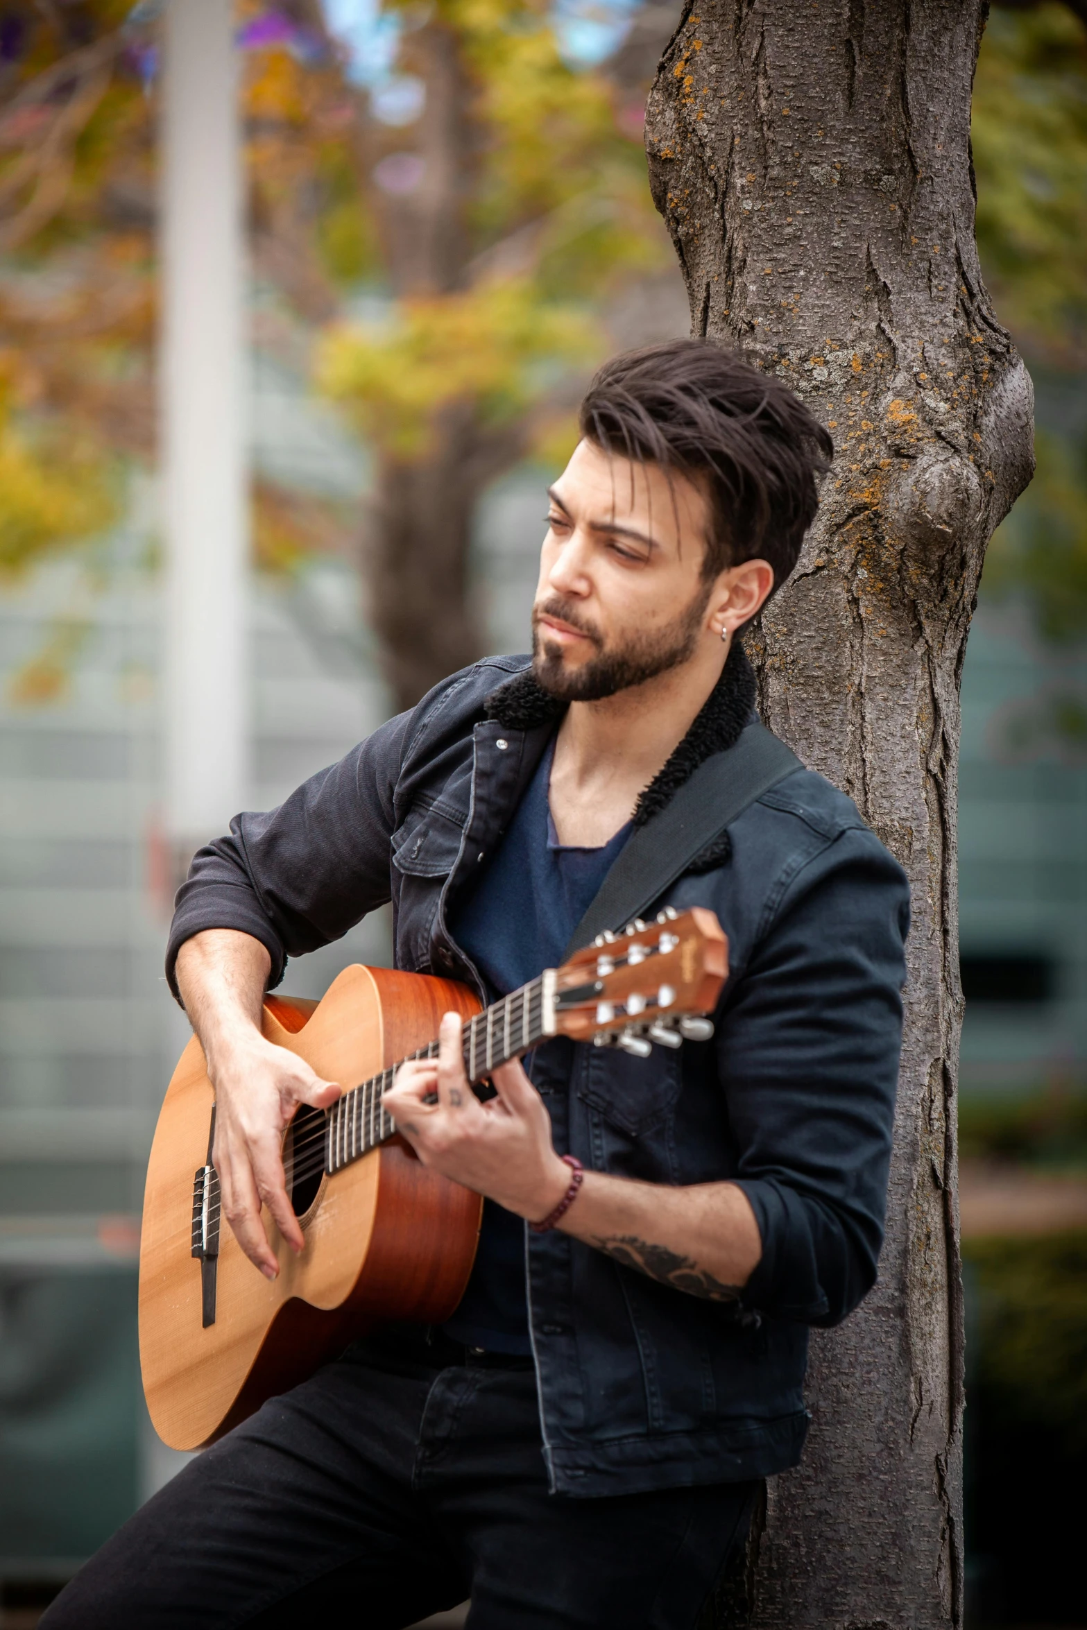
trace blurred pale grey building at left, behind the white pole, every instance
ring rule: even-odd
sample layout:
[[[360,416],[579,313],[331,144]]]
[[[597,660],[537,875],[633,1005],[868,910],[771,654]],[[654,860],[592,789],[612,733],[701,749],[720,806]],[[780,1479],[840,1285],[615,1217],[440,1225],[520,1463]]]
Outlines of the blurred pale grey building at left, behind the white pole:
[[[254,465],[357,500],[365,461],[256,362]],[[143,1165],[187,1037],[161,957],[161,592],[150,494],[93,561],[0,595],[0,1579],[67,1576],[178,1457],[135,1353]],[[60,694],[21,701],[52,652]],[[386,712],[350,562],[253,582],[253,804],[271,807]],[[376,918],[292,967],[319,994],[386,957]]]

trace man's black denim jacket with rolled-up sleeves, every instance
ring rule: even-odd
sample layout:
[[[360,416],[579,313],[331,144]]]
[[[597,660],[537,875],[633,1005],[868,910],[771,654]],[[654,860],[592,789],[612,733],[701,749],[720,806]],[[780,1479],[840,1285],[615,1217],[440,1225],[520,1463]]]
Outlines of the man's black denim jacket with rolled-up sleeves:
[[[504,683],[505,681],[505,683]],[[684,742],[642,794],[647,820],[751,714],[738,647]],[[438,685],[269,813],[240,815],[192,861],[178,947],[205,927],[272,957],[337,939],[391,898],[396,965],[479,975],[447,921],[500,843],[561,709],[526,657]],[[552,1488],[613,1495],[764,1477],[807,1430],[807,1327],[844,1319],[883,1237],[904,874],[821,776],[799,769],[740,815],[662,896],[728,936],[712,1042],[642,1061],[556,1038],[533,1060],[559,1152],[654,1183],[733,1178],[763,1236],[740,1304],[619,1267],[566,1234],[528,1234],[530,1324]]]

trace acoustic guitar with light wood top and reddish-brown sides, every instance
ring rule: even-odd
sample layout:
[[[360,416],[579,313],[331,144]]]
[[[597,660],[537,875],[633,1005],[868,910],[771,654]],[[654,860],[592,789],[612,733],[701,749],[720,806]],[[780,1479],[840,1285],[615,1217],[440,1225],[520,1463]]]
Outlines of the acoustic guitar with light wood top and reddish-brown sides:
[[[279,1278],[259,1273],[220,1219],[215,1094],[196,1037],[166,1090],[147,1169],[140,1240],[140,1364],[155,1430],[174,1449],[213,1443],[388,1320],[440,1324],[460,1302],[482,1200],[422,1165],[383,1092],[406,1058],[433,1058],[443,1012],[464,1019],[464,1068],[487,1076],[552,1035],[652,1046],[707,1040],[727,976],[712,911],[665,911],[601,934],[492,1007],[453,980],[344,968],[319,1002],[269,996],[264,1035],[326,1081],[360,1082],[329,1110],[303,1107],[284,1136],[300,1255],[262,1213]]]

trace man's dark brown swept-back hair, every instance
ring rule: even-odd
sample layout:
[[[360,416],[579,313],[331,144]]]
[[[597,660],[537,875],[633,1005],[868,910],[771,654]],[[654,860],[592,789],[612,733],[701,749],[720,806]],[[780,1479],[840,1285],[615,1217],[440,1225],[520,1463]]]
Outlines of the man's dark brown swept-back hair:
[[[580,411],[582,435],[634,463],[688,476],[709,494],[704,577],[763,559],[779,588],[818,509],[834,443],[781,380],[707,339],[670,339],[605,362]]]

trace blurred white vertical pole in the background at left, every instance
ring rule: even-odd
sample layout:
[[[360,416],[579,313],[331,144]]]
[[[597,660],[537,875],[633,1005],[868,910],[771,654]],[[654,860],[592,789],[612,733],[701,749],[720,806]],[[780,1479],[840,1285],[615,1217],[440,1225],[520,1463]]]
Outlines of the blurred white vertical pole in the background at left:
[[[225,831],[248,787],[246,329],[233,28],[231,0],[166,7],[166,826],[183,864]]]

